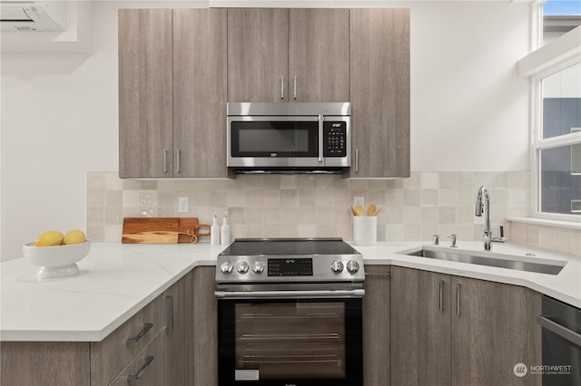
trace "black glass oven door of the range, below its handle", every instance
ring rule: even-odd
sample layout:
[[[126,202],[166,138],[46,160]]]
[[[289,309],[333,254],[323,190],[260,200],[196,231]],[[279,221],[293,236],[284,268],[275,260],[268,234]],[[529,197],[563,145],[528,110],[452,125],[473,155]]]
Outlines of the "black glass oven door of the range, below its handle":
[[[361,304],[219,298],[219,385],[361,385]]]

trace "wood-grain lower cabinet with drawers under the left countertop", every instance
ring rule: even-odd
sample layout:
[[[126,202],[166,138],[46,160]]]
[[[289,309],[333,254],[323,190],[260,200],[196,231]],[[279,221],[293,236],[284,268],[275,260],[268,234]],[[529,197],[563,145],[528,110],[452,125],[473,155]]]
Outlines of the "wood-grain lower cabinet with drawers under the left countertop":
[[[185,385],[184,305],[192,275],[184,276],[101,342],[2,342],[0,384]]]

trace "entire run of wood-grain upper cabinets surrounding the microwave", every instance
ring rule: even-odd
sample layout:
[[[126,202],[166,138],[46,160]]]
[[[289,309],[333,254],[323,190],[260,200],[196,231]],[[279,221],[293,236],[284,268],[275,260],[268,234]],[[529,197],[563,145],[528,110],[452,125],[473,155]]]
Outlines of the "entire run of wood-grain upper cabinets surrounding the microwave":
[[[119,11],[121,178],[229,177],[227,101],[350,101],[344,176],[409,177],[409,9]]]

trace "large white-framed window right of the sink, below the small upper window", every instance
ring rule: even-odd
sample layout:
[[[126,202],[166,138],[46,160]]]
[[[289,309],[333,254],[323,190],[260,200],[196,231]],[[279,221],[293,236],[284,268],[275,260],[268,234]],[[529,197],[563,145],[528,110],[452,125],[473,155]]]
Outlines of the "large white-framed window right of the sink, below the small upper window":
[[[540,96],[532,166],[536,217],[581,219],[581,63],[576,61],[534,78]]]

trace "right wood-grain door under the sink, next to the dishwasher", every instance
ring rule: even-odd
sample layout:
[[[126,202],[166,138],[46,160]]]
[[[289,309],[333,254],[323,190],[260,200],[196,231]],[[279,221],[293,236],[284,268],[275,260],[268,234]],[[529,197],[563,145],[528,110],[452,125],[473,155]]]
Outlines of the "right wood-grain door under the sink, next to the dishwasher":
[[[452,385],[540,386],[517,363],[541,362],[541,295],[517,285],[452,276]]]

